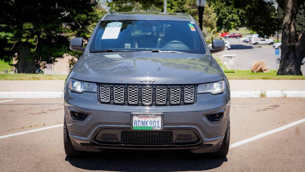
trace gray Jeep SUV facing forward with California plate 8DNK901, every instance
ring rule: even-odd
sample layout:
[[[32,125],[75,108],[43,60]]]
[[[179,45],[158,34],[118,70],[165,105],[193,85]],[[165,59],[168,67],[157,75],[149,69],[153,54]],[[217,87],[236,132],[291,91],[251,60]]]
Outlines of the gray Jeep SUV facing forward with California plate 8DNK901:
[[[64,86],[66,155],[116,149],[228,154],[230,88],[193,17],[104,15]]]

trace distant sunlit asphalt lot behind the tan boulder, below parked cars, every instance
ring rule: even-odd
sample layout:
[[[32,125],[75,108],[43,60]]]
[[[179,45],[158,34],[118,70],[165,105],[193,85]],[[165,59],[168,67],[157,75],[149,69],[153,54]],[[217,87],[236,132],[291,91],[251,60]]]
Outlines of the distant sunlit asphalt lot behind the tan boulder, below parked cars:
[[[277,69],[279,66],[276,59],[281,55],[275,55],[275,49],[272,45],[257,45],[254,47],[253,44],[239,42],[239,39],[235,38],[224,40],[230,43],[231,49],[221,52],[220,57],[222,58],[223,54],[236,54],[236,69],[251,69],[254,61],[261,60],[266,61],[269,69]],[[230,62],[228,67],[234,69],[234,62]],[[301,65],[301,71],[305,75],[305,65]]]

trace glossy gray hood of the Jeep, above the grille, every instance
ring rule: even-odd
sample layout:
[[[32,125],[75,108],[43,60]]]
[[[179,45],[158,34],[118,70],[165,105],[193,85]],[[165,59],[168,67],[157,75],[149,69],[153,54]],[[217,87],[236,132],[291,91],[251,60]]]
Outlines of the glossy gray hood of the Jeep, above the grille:
[[[208,54],[87,53],[74,66],[74,79],[114,84],[198,84],[219,81],[220,69]]]

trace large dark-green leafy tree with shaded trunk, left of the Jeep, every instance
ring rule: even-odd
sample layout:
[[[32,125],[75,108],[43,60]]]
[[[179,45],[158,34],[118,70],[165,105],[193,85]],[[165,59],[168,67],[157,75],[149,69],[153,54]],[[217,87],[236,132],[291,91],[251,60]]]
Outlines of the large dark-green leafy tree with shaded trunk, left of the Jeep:
[[[0,58],[10,62],[17,57],[18,73],[35,73],[41,62],[76,55],[69,39],[89,38],[89,26],[98,21],[95,5],[91,0],[1,1]]]

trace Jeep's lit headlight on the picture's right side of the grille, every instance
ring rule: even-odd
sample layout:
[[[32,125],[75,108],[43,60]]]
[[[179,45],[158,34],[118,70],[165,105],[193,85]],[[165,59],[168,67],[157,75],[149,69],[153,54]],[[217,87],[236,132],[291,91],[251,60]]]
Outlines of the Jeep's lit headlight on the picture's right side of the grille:
[[[197,94],[201,93],[211,93],[219,94],[224,92],[224,81],[212,82],[207,84],[199,84],[197,89]]]

